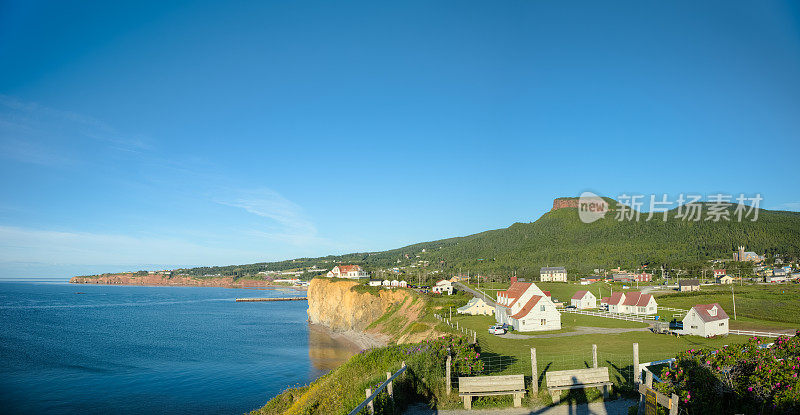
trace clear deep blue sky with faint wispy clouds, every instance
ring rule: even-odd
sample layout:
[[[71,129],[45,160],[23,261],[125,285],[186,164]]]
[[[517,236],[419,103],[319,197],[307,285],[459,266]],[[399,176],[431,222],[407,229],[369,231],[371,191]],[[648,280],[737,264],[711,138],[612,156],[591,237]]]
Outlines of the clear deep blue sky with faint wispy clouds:
[[[800,7],[693,3],[2,2],[0,277],[390,249],[585,190],[800,210]]]

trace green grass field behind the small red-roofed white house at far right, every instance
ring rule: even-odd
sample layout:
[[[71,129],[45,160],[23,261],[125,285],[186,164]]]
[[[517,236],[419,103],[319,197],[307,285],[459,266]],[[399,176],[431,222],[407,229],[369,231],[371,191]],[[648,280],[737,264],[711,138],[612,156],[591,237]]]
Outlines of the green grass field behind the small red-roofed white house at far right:
[[[659,306],[689,309],[695,304],[719,303],[730,316],[732,329],[800,328],[800,285],[733,285],[736,297],[736,320],[733,313],[731,285],[700,286],[700,291],[657,294]]]

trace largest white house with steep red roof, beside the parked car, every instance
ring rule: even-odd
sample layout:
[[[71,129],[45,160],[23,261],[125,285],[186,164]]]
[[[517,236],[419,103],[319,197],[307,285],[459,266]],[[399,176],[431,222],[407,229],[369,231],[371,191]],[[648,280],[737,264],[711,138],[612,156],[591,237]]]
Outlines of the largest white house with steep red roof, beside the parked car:
[[[495,320],[519,331],[561,329],[561,313],[548,295],[531,282],[514,282],[497,292]]]

